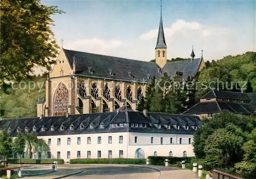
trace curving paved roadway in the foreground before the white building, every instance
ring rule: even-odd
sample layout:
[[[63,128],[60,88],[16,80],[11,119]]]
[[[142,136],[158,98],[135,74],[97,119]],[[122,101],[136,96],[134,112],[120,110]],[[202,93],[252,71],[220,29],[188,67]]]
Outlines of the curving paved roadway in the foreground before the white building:
[[[46,169],[49,166],[37,165],[26,166],[24,169]],[[70,176],[67,176],[70,175]],[[58,171],[44,174],[40,176],[25,177],[26,179],[32,178],[42,178],[42,179],[53,179],[53,178],[124,178],[124,179],[194,179],[198,176],[191,170],[180,169],[174,167],[164,167],[164,166],[151,166],[151,165],[58,165]],[[63,177],[64,178],[64,177]]]

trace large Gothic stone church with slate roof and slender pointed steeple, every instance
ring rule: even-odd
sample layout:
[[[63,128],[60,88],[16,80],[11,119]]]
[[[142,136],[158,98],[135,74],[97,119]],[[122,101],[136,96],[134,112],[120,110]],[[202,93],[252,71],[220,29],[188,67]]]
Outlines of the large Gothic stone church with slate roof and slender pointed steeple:
[[[203,57],[167,62],[162,10],[155,47],[156,63],[61,48],[49,78],[46,98],[37,104],[37,116],[112,112],[123,104],[134,111],[151,78],[163,72],[186,79],[204,67]]]

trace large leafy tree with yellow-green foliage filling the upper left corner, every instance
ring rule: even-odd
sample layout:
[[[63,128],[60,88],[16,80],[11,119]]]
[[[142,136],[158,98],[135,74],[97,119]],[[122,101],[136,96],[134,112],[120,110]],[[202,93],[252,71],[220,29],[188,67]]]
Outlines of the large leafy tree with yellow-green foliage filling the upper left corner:
[[[25,79],[36,66],[51,68],[58,52],[51,16],[61,13],[39,0],[1,1],[0,86]]]

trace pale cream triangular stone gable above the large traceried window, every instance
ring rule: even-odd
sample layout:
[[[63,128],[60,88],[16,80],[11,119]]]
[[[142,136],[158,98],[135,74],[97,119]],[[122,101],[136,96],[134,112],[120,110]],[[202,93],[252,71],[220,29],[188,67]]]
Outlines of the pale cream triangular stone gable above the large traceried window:
[[[73,63],[73,61],[71,62],[67,58],[63,48],[61,48],[59,55],[56,59],[56,64],[53,66],[53,69],[49,74],[50,77],[73,74],[72,63]]]

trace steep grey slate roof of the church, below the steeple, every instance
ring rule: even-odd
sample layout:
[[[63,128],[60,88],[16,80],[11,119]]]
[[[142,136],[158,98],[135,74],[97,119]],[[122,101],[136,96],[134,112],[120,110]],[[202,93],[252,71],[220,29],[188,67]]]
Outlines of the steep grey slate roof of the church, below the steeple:
[[[160,79],[162,75],[159,72],[160,67],[155,62],[77,52],[69,49],[63,49],[63,51],[70,65],[75,64],[76,75],[129,82],[137,80],[138,83],[142,80],[145,83],[150,83],[148,76],[155,76],[156,79]],[[74,60],[75,63],[73,63]],[[200,59],[194,59],[193,62],[190,60],[168,62],[162,71],[168,72],[171,77],[175,76],[177,71],[183,72],[183,79],[186,79],[188,75],[194,76],[196,74],[200,64]],[[71,67],[73,68],[73,65]],[[89,68],[92,69],[93,73],[90,72]],[[111,75],[110,71],[114,75]]]

